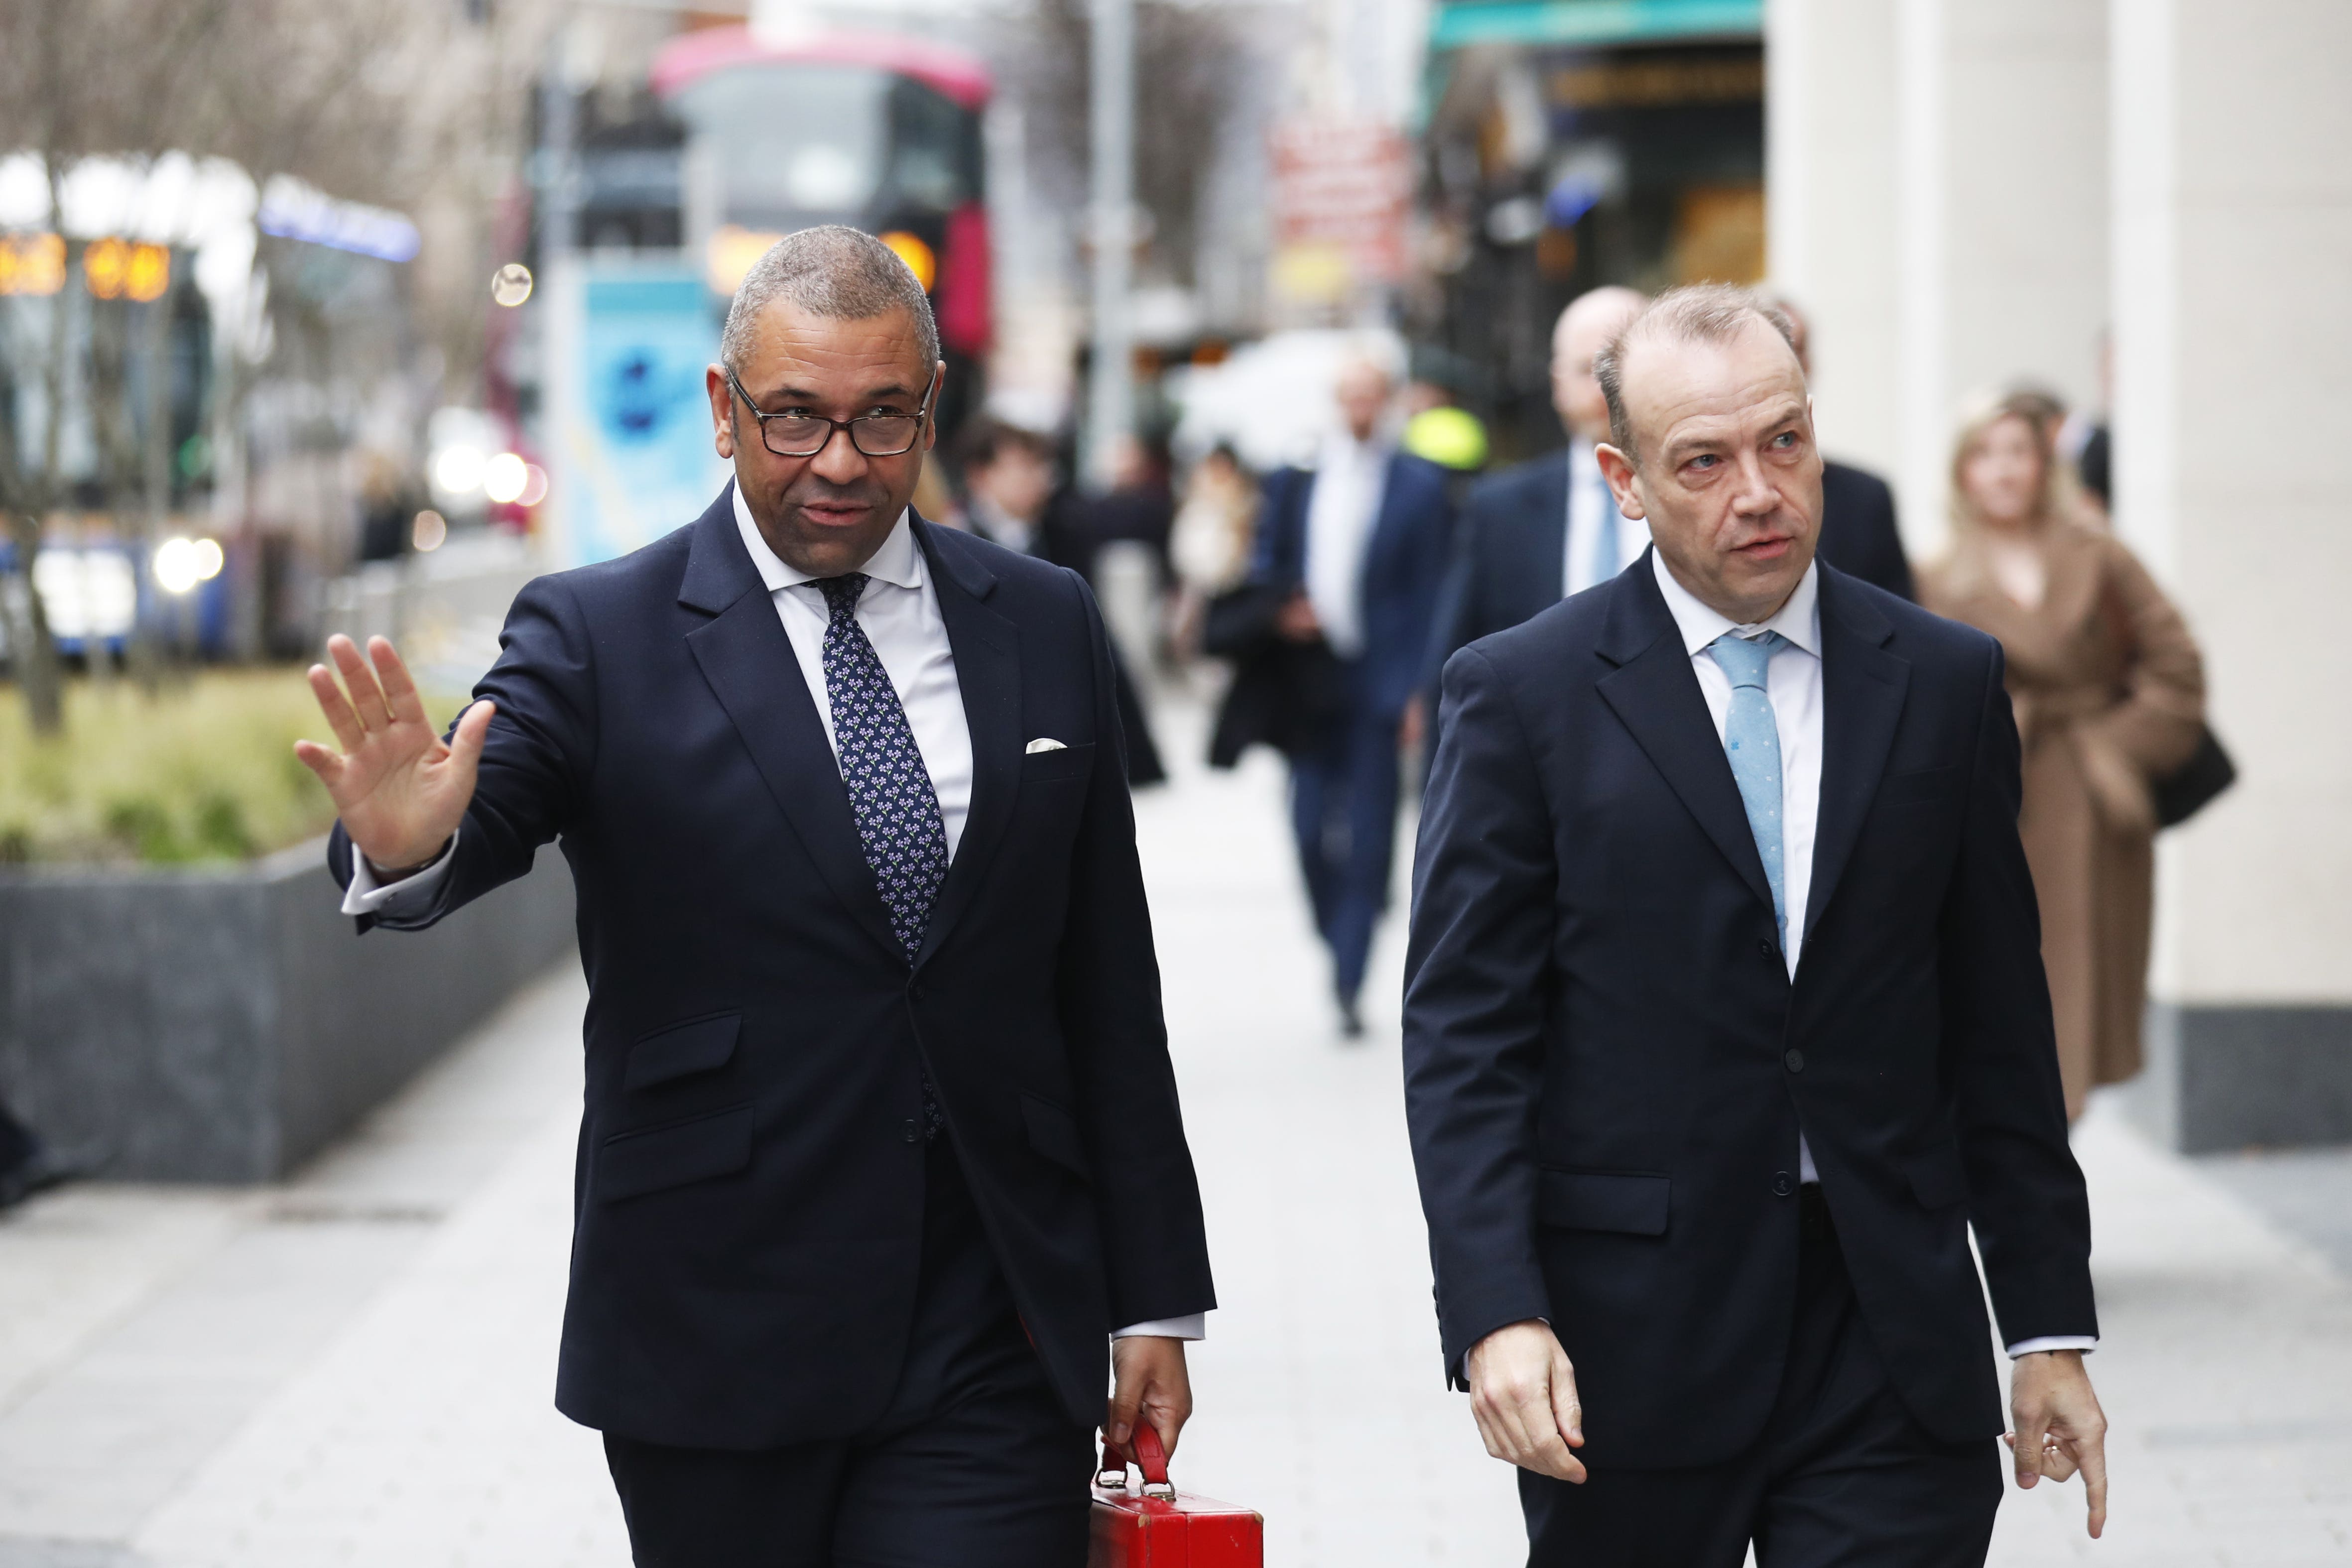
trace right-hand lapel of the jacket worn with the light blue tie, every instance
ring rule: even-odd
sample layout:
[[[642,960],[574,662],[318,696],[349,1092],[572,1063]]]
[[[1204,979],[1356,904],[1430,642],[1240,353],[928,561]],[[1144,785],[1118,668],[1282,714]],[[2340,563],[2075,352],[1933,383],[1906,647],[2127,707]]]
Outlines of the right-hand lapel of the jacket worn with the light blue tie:
[[[1910,661],[1886,651],[1891,635],[1893,628],[1851,578],[1820,569],[1820,816],[1813,827],[1813,889],[1804,900],[1806,936],[1820,924],[1846,870],[1903,717]]]

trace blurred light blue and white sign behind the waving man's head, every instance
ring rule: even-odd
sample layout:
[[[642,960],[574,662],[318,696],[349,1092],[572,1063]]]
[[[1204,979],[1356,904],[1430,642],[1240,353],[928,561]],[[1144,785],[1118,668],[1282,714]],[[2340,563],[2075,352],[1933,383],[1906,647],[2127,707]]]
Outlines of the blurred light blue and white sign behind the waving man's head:
[[[583,263],[555,418],[562,564],[626,555],[703,515],[727,482],[703,369],[720,322],[699,273]]]

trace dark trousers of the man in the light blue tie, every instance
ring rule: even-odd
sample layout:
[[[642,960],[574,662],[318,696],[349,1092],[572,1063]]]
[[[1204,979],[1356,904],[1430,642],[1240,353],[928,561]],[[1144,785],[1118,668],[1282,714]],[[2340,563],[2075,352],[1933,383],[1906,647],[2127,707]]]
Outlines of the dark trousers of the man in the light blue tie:
[[[1818,1187],[1804,1190],[1797,1324],[1764,1436],[1726,1465],[1519,1472],[1529,1568],[1983,1568],[1997,1439],[1929,1436],[1853,1305]]]

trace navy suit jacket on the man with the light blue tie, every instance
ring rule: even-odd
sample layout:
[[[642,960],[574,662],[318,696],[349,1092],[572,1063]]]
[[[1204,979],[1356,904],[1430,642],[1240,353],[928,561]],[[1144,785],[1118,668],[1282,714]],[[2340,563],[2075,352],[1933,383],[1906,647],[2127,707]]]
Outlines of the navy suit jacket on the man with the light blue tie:
[[[2002,1335],[2098,1333],[2002,649],[1820,569],[1795,983],[1649,557],[1456,654],[1421,816],[1406,1117],[1449,1375],[1548,1319],[1585,1458],[1726,1460],[1780,1387],[1797,1138],[1919,1422],[2002,1432]]]

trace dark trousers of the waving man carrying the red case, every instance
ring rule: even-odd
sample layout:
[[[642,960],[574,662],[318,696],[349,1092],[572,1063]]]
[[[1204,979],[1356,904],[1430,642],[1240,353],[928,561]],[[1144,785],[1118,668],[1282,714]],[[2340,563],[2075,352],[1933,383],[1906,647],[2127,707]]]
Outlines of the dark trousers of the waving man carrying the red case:
[[[604,1436],[637,1568],[1082,1568],[1094,1434],[1070,1422],[941,1133],[889,1410],[753,1453]]]

